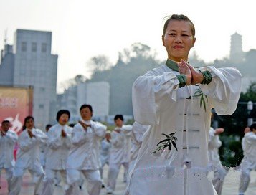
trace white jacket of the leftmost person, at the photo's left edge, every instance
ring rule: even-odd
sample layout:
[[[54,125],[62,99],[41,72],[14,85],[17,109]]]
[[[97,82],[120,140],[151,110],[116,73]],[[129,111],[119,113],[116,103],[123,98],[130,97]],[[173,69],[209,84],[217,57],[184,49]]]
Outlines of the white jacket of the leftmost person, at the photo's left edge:
[[[0,168],[14,166],[14,145],[18,141],[18,135],[14,130],[8,130],[6,135],[0,135]]]

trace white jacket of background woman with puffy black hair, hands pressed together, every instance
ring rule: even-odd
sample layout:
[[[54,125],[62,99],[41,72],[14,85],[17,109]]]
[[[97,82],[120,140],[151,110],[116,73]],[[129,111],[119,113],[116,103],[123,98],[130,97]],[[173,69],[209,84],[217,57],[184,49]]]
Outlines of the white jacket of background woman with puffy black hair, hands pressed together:
[[[65,138],[62,137],[62,129],[67,134]],[[72,146],[72,128],[68,125],[60,125],[57,123],[49,128],[47,132],[47,158],[45,168],[54,170],[65,170],[67,163],[67,155]]]

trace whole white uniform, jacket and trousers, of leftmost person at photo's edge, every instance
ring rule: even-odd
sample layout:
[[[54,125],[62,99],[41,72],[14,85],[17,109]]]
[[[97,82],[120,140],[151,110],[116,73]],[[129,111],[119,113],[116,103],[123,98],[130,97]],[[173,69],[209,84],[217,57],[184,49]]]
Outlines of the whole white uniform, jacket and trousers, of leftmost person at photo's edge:
[[[4,136],[0,134],[0,173],[1,169],[6,171],[8,191],[12,188],[10,181],[14,171],[14,145],[16,141],[18,141],[18,135],[14,130],[8,130]]]

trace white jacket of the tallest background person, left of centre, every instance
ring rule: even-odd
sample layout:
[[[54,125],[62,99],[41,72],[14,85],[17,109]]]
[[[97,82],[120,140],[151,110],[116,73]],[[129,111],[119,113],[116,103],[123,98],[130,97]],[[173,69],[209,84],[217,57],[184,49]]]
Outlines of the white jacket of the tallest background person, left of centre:
[[[85,131],[80,123],[75,125],[72,132],[72,148],[67,158],[67,168],[77,170],[97,170],[100,168],[99,138],[105,136],[107,127],[101,123],[83,121],[91,125]]]

